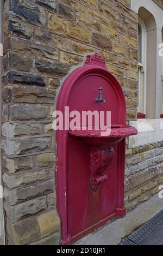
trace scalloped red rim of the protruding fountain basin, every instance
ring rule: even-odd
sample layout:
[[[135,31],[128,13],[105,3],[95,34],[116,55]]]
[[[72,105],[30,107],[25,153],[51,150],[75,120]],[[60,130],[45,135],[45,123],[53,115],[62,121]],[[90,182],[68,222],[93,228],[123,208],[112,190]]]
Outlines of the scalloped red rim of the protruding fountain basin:
[[[106,135],[104,130],[69,130],[72,136],[94,137],[94,138],[124,138],[136,135],[137,129],[133,126],[122,126],[120,128],[111,128],[110,135]]]

